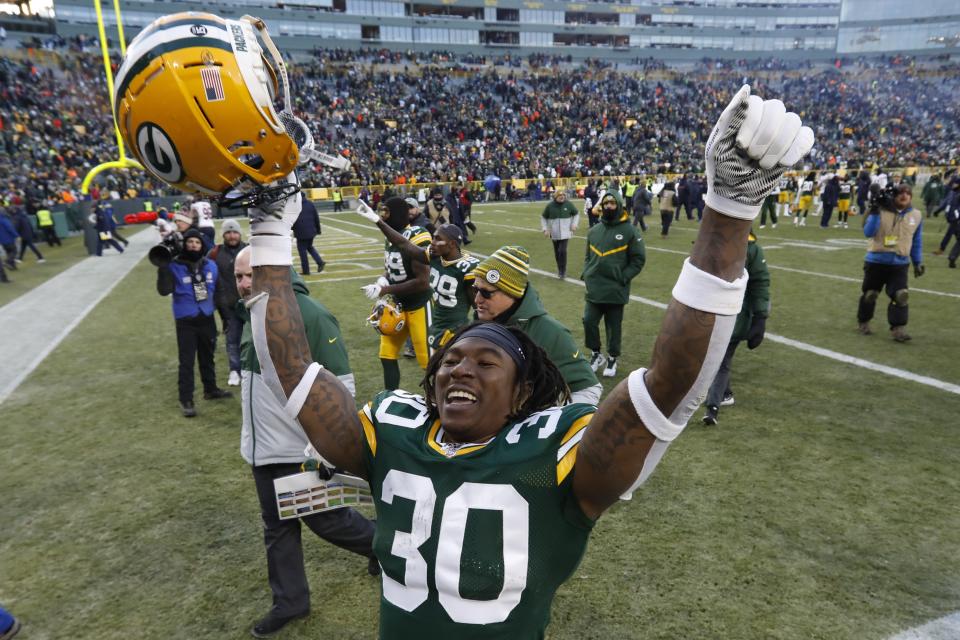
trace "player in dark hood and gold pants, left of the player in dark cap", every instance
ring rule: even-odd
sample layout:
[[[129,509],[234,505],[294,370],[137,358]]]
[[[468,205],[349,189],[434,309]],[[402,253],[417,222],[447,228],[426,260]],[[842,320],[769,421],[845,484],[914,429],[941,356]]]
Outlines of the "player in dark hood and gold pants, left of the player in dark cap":
[[[383,220],[384,225],[396,232],[404,241],[410,241],[419,247],[430,245],[430,234],[422,227],[409,224],[410,210],[403,198],[388,198],[380,205],[380,215],[370,215]],[[404,326],[396,335],[380,336],[380,363],[383,365],[383,385],[385,389],[400,386],[400,353],[407,337],[413,343],[417,363],[427,366],[430,358],[427,336],[430,330],[430,270],[418,260],[411,260],[400,249],[387,240],[384,246],[384,268],[386,276],[377,278],[373,284],[363,287],[363,292],[371,300],[380,296],[392,295],[400,303],[404,315]]]

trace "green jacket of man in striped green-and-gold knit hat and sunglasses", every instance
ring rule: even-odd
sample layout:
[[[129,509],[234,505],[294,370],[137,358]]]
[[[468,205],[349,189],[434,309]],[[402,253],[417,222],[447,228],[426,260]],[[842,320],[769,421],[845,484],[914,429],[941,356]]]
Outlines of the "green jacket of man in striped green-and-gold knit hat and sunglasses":
[[[520,306],[509,318],[503,320],[503,324],[523,330],[535,344],[546,351],[553,364],[560,369],[570,391],[580,391],[600,384],[597,376],[590,370],[590,363],[580,353],[580,347],[573,341],[570,330],[547,313],[532,284],[527,284]]]

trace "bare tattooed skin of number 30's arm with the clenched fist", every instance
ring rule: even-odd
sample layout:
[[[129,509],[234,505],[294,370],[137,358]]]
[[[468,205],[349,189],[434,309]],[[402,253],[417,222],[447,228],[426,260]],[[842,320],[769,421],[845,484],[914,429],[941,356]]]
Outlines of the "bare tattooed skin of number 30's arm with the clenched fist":
[[[706,209],[690,262],[728,282],[743,272],[750,222]],[[671,300],[645,382],[665,416],[684,401],[700,375],[717,316]],[[604,400],[580,442],[573,487],[596,518],[640,476],[657,439],[637,416],[624,380]],[[662,454],[662,452],[661,452]]]

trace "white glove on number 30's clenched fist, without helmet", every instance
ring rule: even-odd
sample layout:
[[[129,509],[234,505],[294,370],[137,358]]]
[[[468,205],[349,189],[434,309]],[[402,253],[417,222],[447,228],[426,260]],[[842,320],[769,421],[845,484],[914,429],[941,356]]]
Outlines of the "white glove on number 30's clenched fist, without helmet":
[[[733,218],[756,218],[783,172],[813,148],[813,130],[801,124],[779,100],[740,87],[707,139],[707,206]]]

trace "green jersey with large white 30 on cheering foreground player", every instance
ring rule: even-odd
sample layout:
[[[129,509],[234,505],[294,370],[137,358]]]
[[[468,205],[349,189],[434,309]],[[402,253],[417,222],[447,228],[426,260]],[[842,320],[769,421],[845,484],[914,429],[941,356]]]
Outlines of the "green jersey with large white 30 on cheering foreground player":
[[[381,638],[544,637],[593,527],[571,472],[595,411],[554,407],[457,448],[421,396],[384,391],[360,411]]]

